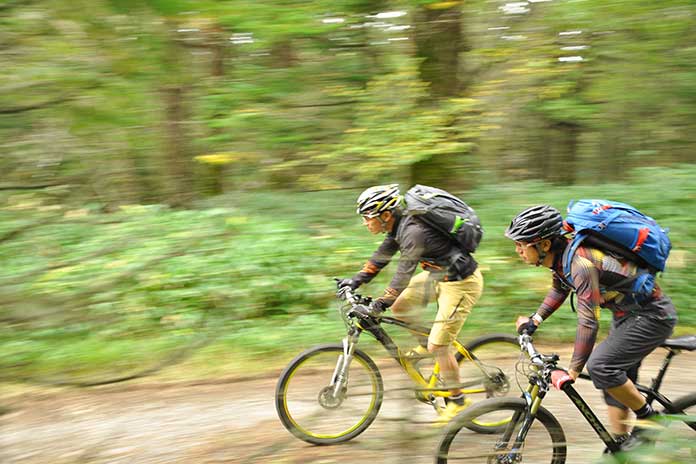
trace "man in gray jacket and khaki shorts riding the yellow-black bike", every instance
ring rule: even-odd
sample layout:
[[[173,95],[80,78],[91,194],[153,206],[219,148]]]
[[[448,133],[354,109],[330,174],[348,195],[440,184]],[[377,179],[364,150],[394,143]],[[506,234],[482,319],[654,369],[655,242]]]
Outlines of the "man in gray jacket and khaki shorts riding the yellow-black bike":
[[[395,316],[411,321],[415,310],[429,295],[437,299],[438,312],[427,342],[441,367],[445,381],[460,383],[459,367],[450,345],[483,291],[483,277],[474,258],[456,247],[447,237],[417,218],[403,214],[403,197],[396,184],[365,190],[357,201],[357,213],[372,234],[386,234],[384,241],[362,270],[340,286],[352,289],[370,282],[393,256],[400,252],[396,273],[384,294],[371,305],[373,314],[391,308]],[[457,256],[456,259],[452,259]],[[418,265],[424,272],[415,274]],[[415,274],[415,275],[414,275]],[[417,354],[424,354],[419,346]],[[452,388],[442,421],[448,421],[470,403],[461,389]]]

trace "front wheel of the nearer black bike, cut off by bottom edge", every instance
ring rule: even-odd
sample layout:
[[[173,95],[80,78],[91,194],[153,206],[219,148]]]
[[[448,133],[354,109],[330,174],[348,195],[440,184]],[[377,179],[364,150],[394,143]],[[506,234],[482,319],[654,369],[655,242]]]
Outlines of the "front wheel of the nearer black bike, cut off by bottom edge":
[[[526,411],[527,404],[521,398],[493,398],[472,406],[448,424],[438,444],[435,463],[564,464],[565,434],[544,407],[537,410],[523,443],[515,446]],[[466,430],[472,422],[495,422],[500,418],[511,418],[500,434],[480,435]]]

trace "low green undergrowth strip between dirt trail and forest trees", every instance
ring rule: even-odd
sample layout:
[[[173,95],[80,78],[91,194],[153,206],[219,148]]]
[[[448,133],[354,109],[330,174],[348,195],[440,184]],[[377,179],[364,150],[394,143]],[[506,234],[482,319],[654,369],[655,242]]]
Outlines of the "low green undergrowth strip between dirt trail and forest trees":
[[[692,331],[694,179],[696,168],[685,165],[634,170],[630,182],[601,187],[517,182],[462,192],[484,225],[476,258],[486,279],[462,336],[510,332],[516,315],[532,312],[550,284],[549,273],[522,264],[503,237],[511,217],[536,203],[563,210],[581,197],[633,204],[670,228],[674,248],[660,281],[679,310],[679,333]],[[356,272],[381,241],[354,214],[358,193],[237,192],[201,201],[196,210],[132,205],[108,215],[13,195],[0,211],[0,237],[14,232],[0,242],[6,378],[126,372],[202,334],[213,341],[196,359],[221,368],[259,356],[285,360],[300,348],[338,341],[343,326],[331,279]],[[364,291],[381,294],[393,269]],[[609,317],[604,311],[603,330]],[[567,305],[542,331],[557,340],[574,333]]]

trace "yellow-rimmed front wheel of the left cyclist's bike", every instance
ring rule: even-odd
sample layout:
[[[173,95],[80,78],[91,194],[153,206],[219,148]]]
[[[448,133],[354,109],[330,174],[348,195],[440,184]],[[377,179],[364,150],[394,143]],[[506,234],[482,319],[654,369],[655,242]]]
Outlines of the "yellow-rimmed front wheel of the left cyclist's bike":
[[[320,345],[300,353],[283,370],[276,386],[276,410],[286,429],[315,445],[351,440],[377,417],[384,386],[374,361],[355,350],[348,380],[331,385],[343,346]]]

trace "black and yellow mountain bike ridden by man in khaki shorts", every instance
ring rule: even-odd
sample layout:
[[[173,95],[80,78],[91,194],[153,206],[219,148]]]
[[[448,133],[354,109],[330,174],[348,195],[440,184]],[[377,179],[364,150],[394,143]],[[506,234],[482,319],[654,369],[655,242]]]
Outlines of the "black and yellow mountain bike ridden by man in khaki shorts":
[[[452,388],[460,388],[466,395],[485,397],[510,392],[510,378],[514,376],[519,358],[515,337],[486,335],[466,345],[455,340],[452,349],[461,378],[466,380],[458,385],[445,385],[434,358],[402,350],[382,325],[406,329],[420,336],[428,335],[427,327],[388,316],[364,315],[357,309],[361,306],[364,309],[371,299],[350,289],[340,290],[337,296],[343,302],[338,312],[347,330],[342,343],[319,345],[300,353],[278,379],[276,410],[285,428],[297,438],[317,445],[346,442],[364,432],[377,417],[384,385],[377,364],[357,348],[364,332],[372,335],[413,380],[416,399],[438,412]],[[427,370],[424,364],[428,364]],[[473,421],[467,427],[494,433],[500,431],[504,423],[505,418],[496,422]]]

